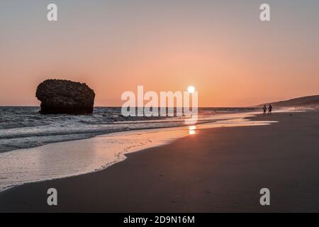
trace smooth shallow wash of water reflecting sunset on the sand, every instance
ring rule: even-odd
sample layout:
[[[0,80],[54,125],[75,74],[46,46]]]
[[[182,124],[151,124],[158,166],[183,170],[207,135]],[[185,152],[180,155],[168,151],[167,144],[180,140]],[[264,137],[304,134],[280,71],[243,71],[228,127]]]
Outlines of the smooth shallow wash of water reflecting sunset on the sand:
[[[256,126],[271,122],[248,121],[248,114],[215,116],[215,121],[196,126],[155,128],[98,135],[94,138],[50,143],[37,148],[0,154],[0,191],[16,185],[82,175],[125,159],[126,153],[192,136],[203,128]],[[219,119],[219,120],[218,120]]]

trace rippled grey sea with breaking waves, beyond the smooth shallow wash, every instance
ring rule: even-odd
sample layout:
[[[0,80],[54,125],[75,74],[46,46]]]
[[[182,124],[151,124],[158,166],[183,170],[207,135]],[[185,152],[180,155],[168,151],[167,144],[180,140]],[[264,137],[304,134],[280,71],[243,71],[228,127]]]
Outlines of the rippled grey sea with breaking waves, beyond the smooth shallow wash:
[[[39,107],[0,107],[0,153],[47,143],[81,140],[95,135],[150,128],[184,126],[181,117],[123,117],[120,107],[97,107],[94,114],[41,115]],[[255,108],[200,108],[198,123],[216,115],[259,111]]]

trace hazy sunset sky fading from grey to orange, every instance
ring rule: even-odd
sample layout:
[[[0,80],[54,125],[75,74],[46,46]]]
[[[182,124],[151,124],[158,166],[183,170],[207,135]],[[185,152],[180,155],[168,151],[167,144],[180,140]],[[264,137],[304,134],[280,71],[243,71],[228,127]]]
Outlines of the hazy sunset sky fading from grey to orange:
[[[318,21],[318,0],[0,1],[0,105],[39,105],[49,78],[86,82],[96,106],[121,106],[138,85],[194,85],[199,106],[319,94]]]

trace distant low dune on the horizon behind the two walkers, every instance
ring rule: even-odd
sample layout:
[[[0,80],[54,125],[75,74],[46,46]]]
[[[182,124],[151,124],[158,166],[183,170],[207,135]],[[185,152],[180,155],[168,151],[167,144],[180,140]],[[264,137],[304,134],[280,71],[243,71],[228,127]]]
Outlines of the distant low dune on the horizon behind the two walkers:
[[[266,103],[268,104],[268,103]],[[259,106],[263,106],[261,104]],[[286,101],[278,101],[273,102],[272,106],[277,107],[312,107],[312,108],[319,108],[319,95],[314,96],[304,96],[296,99],[289,99]]]

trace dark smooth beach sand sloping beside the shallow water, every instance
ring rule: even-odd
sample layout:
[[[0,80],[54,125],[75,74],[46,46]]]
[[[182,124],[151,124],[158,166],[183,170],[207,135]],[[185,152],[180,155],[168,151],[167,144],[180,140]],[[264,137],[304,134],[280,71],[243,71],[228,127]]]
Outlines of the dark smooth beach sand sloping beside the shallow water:
[[[99,172],[14,187],[0,212],[318,212],[319,113],[252,120],[279,122],[201,129]],[[47,206],[49,188],[58,206]]]

